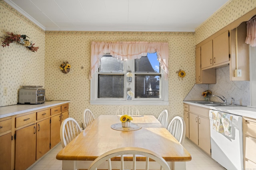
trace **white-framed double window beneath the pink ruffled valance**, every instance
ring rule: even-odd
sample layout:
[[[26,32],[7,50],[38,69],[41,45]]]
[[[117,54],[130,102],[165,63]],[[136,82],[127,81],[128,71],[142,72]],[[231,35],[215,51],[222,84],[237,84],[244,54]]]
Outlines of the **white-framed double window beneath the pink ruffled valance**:
[[[132,77],[126,76],[127,72]],[[91,104],[168,104],[168,80],[160,68],[156,53],[140,59],[122,61],[104,55],[91,80]],[[127,91],[132,90],[132,100]]]

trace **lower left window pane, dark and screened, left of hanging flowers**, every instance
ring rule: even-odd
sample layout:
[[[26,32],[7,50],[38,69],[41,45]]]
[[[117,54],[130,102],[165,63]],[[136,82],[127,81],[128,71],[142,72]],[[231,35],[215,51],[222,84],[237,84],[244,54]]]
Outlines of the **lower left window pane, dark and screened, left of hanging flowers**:
[[[98,75],[98,98],[124,98],[124,75]]]

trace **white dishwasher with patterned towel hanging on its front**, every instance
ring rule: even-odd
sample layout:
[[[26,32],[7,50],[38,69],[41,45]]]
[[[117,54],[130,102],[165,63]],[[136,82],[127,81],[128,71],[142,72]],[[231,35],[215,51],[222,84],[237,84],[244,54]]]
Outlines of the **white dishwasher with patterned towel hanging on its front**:
[[[232,116],[229,125],[231,133],[228,136],[213,128],[213,124],[218,124],[216,119],[213,120],[213,112],[215,118],[217,112],[219,115]],[[209,117],[212,158],[227,170],[244,169],[242,116],[210,110]]]

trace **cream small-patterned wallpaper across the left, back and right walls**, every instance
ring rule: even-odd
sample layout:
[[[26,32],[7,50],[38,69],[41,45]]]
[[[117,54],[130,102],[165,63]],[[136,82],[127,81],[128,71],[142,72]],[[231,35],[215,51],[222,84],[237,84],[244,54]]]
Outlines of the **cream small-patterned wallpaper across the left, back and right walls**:
[[[0,0],[0,37],[6,31],[26,34],[39,46],[33,53],[19,44],[0,47],[0,106],[18,102],[22,85],[42,85],[47,100],[70,100],[70,117],[82,123],[82,113],[89,108],[95,117],[115,114],[118,106],[90,105],[90,42],[91,41],[164,41],[169,43],[169,105],[138,106],[140,113],[158,117],[163,109],[169,111],[169,121],[183,115],[182,101],[195,84],[195,45],[256,7],[254,0],[230,0],[195,32],[87,32],[43,31]],[[71,65],[63,74],[63,61]],[[179,80],[179,69],[186,77]],[[3,88],[8,93],[3,96]]]

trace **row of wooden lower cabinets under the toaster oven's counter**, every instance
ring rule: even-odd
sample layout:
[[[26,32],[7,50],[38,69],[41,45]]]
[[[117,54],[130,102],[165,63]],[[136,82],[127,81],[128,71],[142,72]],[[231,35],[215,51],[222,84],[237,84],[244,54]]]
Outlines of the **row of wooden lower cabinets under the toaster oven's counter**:
[[[0,170],[26,170],[60,143],[68,105],[0,118]]]

